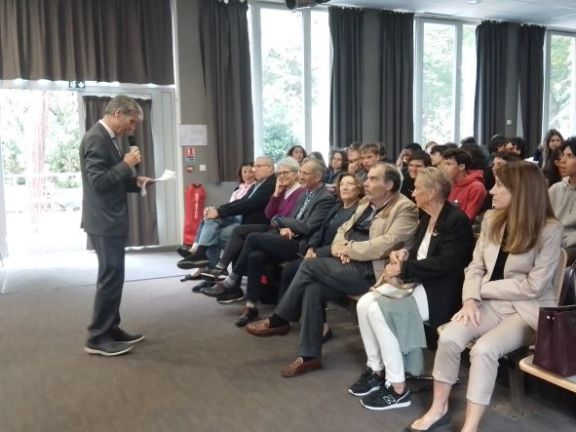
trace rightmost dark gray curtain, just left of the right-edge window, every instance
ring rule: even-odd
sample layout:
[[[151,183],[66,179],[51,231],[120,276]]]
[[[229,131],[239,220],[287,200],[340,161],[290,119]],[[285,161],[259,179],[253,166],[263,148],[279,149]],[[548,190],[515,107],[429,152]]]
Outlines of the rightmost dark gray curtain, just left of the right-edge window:
[[[534,153],[542,133],[545,33],[544,27],[523,25],[518,35],[520,114],[528,154]]]

